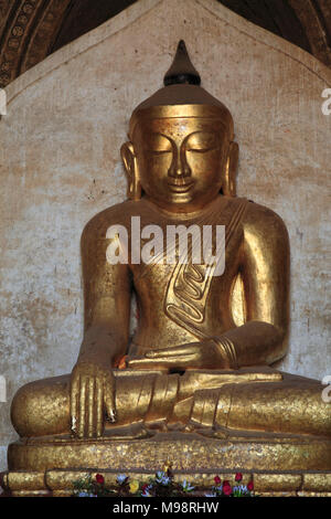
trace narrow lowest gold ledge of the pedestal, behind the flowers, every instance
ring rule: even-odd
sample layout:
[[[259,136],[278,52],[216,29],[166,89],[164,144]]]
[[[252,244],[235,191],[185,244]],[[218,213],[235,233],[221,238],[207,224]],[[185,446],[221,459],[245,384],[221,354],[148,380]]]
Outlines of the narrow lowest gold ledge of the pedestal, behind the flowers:
[[[241,485],[254,481],[255,496],[263,497],[331,497],[331,470],[330,472],[245,472]],[[114,486],[118,470],[86,470],[86,469],[54,469],[45,472],[8,472],[3,474],[3,487],[8,496],[14,497],[70,497],[73,495],[73,481],[85,478],[88,475],[94,478],[96,474],[103,474],[106,486]],[[147,483],[156,472],[125,470],[130,478]],[[234,470],[217,470],[222,480],[227,479],[235,485]],[[203,488],[211,489],[214,485],[215,473],[194,473],[174,470],[174,480],[186,479],[195,487],[201,487],[196,495],[204,495]]]

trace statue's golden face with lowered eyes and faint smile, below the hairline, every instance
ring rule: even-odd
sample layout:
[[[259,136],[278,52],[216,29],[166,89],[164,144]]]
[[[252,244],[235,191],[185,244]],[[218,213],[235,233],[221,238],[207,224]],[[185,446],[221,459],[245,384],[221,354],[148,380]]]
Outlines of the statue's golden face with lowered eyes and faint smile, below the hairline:
[[[143,119],[132,140],[142,190],[161,208],[196,211],[218,195],[229,146],[221,119]]]

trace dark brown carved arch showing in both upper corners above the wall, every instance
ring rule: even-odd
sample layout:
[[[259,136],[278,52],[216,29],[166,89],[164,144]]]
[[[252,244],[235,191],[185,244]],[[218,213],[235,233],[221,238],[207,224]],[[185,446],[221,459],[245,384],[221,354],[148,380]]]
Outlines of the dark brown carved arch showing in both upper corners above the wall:
[[[136,0],[0,0],[0,87]],[[331,67],[331,0],[218,0]]]

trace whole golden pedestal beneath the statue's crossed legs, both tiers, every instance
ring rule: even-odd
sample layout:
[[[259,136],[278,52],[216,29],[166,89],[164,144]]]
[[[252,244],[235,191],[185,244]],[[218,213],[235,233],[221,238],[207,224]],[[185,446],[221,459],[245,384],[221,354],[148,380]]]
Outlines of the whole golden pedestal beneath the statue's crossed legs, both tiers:
[[[195,486],[211,487],[216,474],[234,480],[234,474],[242,472],[243,484],[253,477],[258,495],[331,496],[330,441],[275,435],[220,438],[207,434],[20,441],[9,446],[10,470],[3,476],[3,486],[14,496],[67,496],[72,483],[88,473],[102,473],[106,484],[114,484],[122,473],[145,481],[170,460],[175,478]]]

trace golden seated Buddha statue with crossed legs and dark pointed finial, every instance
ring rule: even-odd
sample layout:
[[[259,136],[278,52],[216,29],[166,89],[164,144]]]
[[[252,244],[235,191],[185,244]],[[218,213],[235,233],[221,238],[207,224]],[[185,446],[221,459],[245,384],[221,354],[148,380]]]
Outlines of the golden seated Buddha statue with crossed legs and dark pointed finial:
[[[83,445],[113,442],[116,456],[116,442],[137,451],[156,435],[160,449],[163,438],[178,453],[178,469],[181,442],[191,448],[196,438],[221,446],[225,468],[330,468],[323,386],[271,366],[287,350],[286,226],[271,210],[236,197],[231,113],[200,86],[183,42],[164,87],[134,110],[129,139],[121,147],[129,200],[97,214],[82,235],[85,333],[77,362],[71,374],[18,391],[12,423],[22,439],[10,446],[9,468],[96,466]],[[169,225],[225,226],[224,273],[179,254],[174,264],[162,253],[137,261],[135,218],[141,229],[164,233]],[[128,230],[126,243],[120,234],[109,237],[111,225]],[[128,262],[108,261],[114,243]],[[139,317],[130,341],[134,292]],[[229,442],[232,453],[241,445],[231,459]],[[39,445],[33,465],[24,449]],[[67,462],[58,445],[82,451]]]

